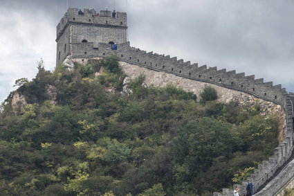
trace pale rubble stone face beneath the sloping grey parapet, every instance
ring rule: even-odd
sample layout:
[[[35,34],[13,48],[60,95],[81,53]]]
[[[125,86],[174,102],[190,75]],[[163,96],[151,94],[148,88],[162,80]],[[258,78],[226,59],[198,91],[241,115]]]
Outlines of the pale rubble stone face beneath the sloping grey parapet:
[[[199,82],[196,80],[190,80],[188,78],[182,78],[171,73],[145,69],[144,67],[129,64],[127,62],[120,62],[120,67],[128,76],[125,80],[133,80],[139,75],[145,75],[145,84],[147,86],[154,85],[155,87],[165,87],[167,84],[174,84],[177,87],[182,87],[185,91],[196,94],[197,98],[199,98],[199,93],[203,91],[203,88],[205,88],[206,86],[210,86],[216,89],[218,100],[221,103],[229,103],[230,101],[235,101],[241,105],[252,106],[255,105],[255,103],[259,103],[262,109],[262,115],[268,116],[270,114],[276,113],[279,116],[279,142],[282,142],[284,136],[286,136],[286,115],[284,114],[284,111],[280,105],[277,105],[267,100],[263,100],[261,98],[256,98],[255,96],[241,91],[227,89],[225,87],[220,87],[216,84],[210,84],[207,82]],[[124,81],[124,84],[125,83],[127,82]],[[127,87],[125,87],[125,91],[127,91]]]

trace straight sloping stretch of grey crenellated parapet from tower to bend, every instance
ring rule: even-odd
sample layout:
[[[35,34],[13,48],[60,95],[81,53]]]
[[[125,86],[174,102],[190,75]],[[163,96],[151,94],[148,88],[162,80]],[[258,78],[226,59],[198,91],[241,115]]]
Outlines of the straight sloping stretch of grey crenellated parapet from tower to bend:
[[[139,48],[129,47],[129,43],[118,44],[117,51],[111,51],[109,44],[100,44],[100,49],[95,55],[104,57],[110,53],[116,53],[120,60],[131,64],[172,73],[192,80],[217,84],[228,89],[244,91],[286,108],[286,89],[282,88],[280,84],[273,86],[273,82],[264,82],[263,78],[255,79],[255,75],[246,76],[245,73],[236,73],[235,70],[226,71],[226,69],[218,70],[217,67],[207,65],[198,66],[198,64],[178,60],[177,57],[158,55],[152,52],[147,53],[147,51]]]

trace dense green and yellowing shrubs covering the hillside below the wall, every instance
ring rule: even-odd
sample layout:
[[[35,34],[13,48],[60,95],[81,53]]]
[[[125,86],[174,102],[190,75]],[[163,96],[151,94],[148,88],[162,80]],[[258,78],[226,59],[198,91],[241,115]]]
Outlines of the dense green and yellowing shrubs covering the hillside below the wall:
[[[105,71],[96,75],[100,68]],[[211,195],[277,146],[277,116],[178,87],[145,87],[116,57],[17,80],[28,105],[0,115],[1,195]],[[56,87],[55,104],[46,92]]]

